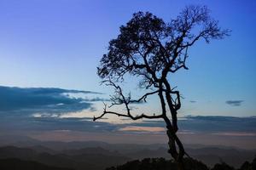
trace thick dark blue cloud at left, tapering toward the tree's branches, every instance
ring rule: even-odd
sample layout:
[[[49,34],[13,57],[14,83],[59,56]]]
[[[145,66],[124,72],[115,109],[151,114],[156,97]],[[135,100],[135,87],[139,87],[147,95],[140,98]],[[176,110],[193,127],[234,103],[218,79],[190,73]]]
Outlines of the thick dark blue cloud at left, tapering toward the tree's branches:
[[[67,113],[92,108],[101,98],[74,98],[70,94],[101,94],[61,88],[10,88],[0,86],[0,112]]]

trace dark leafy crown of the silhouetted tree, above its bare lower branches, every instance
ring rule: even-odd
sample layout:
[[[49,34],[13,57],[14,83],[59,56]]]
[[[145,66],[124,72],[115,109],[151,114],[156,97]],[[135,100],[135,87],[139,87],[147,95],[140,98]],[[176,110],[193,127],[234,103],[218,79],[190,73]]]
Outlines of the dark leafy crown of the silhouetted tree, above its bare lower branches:
[[[126,73],[142,76],[141,85],[148,88],[170,72],[188,69],[187,50],[196,41],[210,42],[228,34],[229,30],[222,30],[205,6],[188,6],[170,22],[149,12],[138,12],[109,42],[108,54],[103,55],[97,73],[114,80],[121,80]]]

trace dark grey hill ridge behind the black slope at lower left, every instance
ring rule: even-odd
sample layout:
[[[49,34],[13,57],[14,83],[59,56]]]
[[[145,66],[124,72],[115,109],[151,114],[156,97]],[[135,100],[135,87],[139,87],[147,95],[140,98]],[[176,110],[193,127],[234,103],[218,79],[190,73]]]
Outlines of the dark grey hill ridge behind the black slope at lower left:
[[[97,150],[98,153],[93,153],[93,150]],[[102,170],[130,160],[128,157],[118,156],[101,148],[89,148],[88,150],[78,150],[77,152],[74,150],[69,151],[70,154],[49,154],[27,148],[6,146],[0,148],[0,159],[17,158],[25,161],[38,161],[49,166],[69,167],[77,170]]]

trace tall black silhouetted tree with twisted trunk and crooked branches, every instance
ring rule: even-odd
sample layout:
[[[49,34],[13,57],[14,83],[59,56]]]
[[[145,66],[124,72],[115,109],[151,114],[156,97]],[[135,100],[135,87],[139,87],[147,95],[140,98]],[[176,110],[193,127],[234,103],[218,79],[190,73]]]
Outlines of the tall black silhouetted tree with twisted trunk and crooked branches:
[[[120,26],[119,36],[109,42],[108,54],[104,54],[97,74],[103,82],[115,89],[112,105],[105,105],[101,116],[106,114],[125,116],[132,120],[162,118],[166,122],[169,150],[179,169],[183,169],[183,144],[177,137],[177,111],[181,108],[181,96],[168,80],[180,69],[188,70],[186,59],[188,49],[195,42],[228,36],[229,30],[222,30],[213,20],[205,6],[188,6],[175,20],[166,23],[150,13],[138,12],[125,25]],[[125,96],[116,83],[122,82],[126,74],[140,77],[139,87],[150,90],[139,99]],[[158,95],[161,112],[155,114],[134,114],[131,104],[146,101],[150,95]],[[125,112],[108,111],[113,105],[125,105]]]

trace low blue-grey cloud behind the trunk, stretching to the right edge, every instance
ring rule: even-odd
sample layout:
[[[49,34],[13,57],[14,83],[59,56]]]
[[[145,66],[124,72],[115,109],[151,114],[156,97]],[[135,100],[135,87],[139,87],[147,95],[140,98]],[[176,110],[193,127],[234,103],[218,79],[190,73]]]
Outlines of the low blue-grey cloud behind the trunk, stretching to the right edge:
[[[256,116],[185,116],[178,120],[180,131],[195,133],[256,133]],[[131,122],[126,126],[137,127],[166,127],[161,120],[145,120],[143,122]]]

